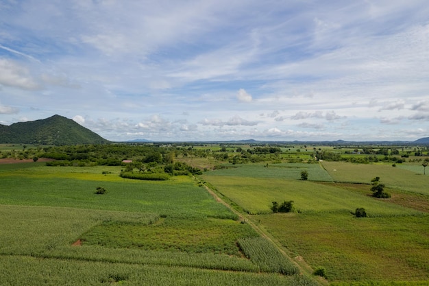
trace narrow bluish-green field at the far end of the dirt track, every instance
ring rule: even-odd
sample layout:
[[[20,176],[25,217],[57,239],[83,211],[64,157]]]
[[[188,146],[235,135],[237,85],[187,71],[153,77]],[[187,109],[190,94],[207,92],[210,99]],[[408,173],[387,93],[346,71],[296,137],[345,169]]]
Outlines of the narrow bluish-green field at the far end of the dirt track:
[[[307,163],[225,165],[226,169],[210,171],[210,176],[234,176],[249,178],[283,178],[299,180],[301,171],[308,171],[308,180],[332,182],[332,178],[321,165]]]

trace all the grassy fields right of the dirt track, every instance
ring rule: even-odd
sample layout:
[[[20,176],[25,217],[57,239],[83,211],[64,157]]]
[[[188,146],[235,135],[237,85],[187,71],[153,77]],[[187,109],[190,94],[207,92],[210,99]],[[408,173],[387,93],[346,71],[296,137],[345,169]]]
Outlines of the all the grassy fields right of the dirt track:
[[[429,284],[429,176],[391,165],[323,162],[332,180],[302,181],[295,165],[289,176],[278,177],[267,175],[270,167],[259,167],[217,170],[202,178],[253,214],[249,218],[297,263],[324,267],[332,285]],[[371,197],[375,176],[391,199]],[[270,213],[274,200],[293,200],[297,212]],[[358,207],[369,217],[354,217]]]

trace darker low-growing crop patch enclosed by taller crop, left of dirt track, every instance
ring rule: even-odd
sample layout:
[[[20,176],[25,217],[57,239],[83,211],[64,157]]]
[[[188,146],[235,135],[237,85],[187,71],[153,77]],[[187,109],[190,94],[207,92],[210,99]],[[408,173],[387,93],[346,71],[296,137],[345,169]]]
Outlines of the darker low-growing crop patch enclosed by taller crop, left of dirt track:
[[[241,256],[236,241],[256,237],[248,225],[230,219],[161,218],[156,224],[107,222],[88,230],[80,238],[84,246],[138,248],[191,253]]]

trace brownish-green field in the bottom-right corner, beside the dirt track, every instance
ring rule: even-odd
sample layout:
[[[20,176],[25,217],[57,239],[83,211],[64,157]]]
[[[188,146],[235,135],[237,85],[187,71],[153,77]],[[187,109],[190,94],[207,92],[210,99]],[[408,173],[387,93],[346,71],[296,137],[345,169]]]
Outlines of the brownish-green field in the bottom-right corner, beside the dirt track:
[[[329,281],[355,281],[356,285],[366,285],[364,281],[429,283],[428,218],[258,215],[260,224],[291,256],[304,257],[313,268],[326,268]]]

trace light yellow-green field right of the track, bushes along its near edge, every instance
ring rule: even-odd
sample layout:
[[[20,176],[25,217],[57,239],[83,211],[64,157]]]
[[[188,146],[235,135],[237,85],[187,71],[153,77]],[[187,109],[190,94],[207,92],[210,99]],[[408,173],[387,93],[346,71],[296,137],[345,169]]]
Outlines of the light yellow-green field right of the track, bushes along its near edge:
[[[210,173],[211,174],[211,173]],[[245,178],[232,176],[202,176],[247,213],[271,213],[272,202],[293,200],[302,213],[348,213],[365,207],[371,217],[419,215],[421,212],[368,195],[347,191],[336,184],[318,184],[301,180]],[[368,190],[370,186],[368,185]]]

